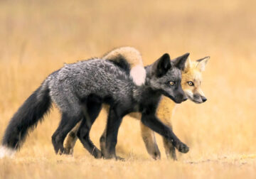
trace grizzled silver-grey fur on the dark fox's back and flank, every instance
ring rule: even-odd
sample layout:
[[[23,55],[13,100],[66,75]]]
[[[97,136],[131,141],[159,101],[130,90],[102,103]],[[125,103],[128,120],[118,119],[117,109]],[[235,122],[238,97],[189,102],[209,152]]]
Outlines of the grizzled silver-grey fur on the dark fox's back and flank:
[[[67,64],[48,77],[50,96],[58,106],[76,103],[89,94],[132,97],[129,74],[108,60],[92,59]]]

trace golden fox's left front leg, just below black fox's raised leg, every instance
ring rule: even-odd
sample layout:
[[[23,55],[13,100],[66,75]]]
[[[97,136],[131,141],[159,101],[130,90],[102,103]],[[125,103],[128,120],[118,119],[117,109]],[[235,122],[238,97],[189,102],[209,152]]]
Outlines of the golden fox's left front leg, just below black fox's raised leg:
[[[142,139],[146,146],[146,151],[155,160],[160,159],[161,153],[156,143],[156,137],[154,135],[154,131],[152,131],[151,129],[149,129],[149,127],[142,124],[142,122],[140,126],[142,131]]]

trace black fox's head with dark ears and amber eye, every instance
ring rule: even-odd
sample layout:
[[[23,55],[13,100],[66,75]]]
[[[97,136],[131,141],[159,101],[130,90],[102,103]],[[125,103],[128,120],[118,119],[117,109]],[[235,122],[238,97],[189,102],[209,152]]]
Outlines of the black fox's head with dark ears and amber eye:
[[[146,83],[176,103],[188,99],[181,88],[181,70],[184,70],[189,53],[171,60],[168,53],[146,67]]]

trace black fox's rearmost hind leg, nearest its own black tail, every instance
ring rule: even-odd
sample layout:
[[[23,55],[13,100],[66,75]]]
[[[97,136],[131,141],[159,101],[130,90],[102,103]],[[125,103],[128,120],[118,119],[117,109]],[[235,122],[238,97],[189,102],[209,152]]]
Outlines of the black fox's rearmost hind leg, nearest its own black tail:
[[[55,153],[65,153],[64,147],[63,147],[63,141],[65,139],[65,136],[67,136],[68,132],[73,129],[75,124],[80,121],[82,118],[81,114],[72,114],[69,112],[63,112],[60,124],[58,126],[58,129],[54,132],[52,136],[52,142],[54,146]]]

